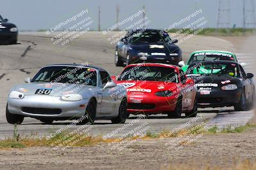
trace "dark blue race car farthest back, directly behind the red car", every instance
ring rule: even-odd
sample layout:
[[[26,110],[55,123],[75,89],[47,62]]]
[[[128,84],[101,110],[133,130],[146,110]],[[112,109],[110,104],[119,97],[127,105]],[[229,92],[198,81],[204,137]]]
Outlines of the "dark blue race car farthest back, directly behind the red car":
[[[182,51],[167,32],[155,29],[128,31],[118,41],[115,51],[116,66],[139,62],[157,62],[177,65],[182,60]]]

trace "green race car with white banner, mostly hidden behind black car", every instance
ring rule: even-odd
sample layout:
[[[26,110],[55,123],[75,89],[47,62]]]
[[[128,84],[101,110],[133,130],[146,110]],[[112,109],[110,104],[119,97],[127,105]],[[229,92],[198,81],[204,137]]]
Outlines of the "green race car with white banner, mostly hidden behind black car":
[[[188,69],[189,64],[193,62],[218,60],[230,60],[238,62],[237,57],[234,53],[214,50],[202,50],[191,53],[188,62],[185,64],[185,62],[182,60],[179,62],[179,66],[185,72]],[[241,66],[246,66],[244,62],[241,62],[240,64]],[[203,72],[207,73],[206,70],[204,70]]]

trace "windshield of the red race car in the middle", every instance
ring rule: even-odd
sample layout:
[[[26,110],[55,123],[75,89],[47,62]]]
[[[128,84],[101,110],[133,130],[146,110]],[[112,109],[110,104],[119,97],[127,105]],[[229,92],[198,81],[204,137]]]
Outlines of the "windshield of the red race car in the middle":
[[[155,66],[134,66],[124,69],[118,80],[168,81],[178,83],[175,69]]]

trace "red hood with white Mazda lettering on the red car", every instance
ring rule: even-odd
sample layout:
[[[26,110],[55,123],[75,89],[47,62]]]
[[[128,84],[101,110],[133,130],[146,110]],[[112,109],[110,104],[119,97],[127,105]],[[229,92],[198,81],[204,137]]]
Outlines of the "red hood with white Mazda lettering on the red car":
[[[177,88],[177,83],[168,83],[164,81],[115,81],[118,85],[123,85],[127,94],[154,94],[162,90],[172,90]]]

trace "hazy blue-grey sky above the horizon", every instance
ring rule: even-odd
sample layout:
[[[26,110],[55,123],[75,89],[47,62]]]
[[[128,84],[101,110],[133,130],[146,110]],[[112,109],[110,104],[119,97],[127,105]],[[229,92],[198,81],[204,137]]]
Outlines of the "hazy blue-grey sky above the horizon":
[[[230,0],[230,3],[230,26],[236,24],[237,27],[242,27],[242,0]],[[124,20],[124,18],[131,16],[145,5],[146,16],[150,20],[150,24],[147,25],[149,28],[167,27],[200,8],[202,8],[201,15],[208,21],[205,27],[216,27],[218,0],[13,0],[1,1],[0,14],[3,18],[8,18],[10,22],[16,24],[20,31],[37,31],[39,29],[50,29],[61,21],[76,15],[79,11],[88,9],[88,15],[94,21],[92,29],[97,29],[98,6],[100,5],[102,14],[101,27],[106,29],[116,22],[116,4],[120,7],[119,20]],[[225,21],[228,17],[225,15],[222,18]],[[122,26],[120,29],[122,29]]]

